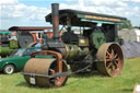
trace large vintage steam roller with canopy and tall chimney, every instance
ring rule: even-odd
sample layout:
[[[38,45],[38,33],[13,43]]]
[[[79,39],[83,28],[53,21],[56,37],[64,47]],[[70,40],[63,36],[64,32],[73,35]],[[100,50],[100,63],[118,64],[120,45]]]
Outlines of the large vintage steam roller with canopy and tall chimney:
[[[23,75],[28,84],[59,88],[72,73],[98,71],[107,77],[117,77],[122,71],[124,55],[117,24],[125,22],[126,18],[59,10],[58,3],[52,3],[51,10],[45,19],[52,24],[54,36],[44,40],[42,51],[32,54],[26,62]],[[98,23],[102,25],[98,26]],[[59,24],[67,31],[61,32],[61,36]],[[80,27],[80,33],[74,32],[72,26]],[[67,65],[70,66],[69,71]]]

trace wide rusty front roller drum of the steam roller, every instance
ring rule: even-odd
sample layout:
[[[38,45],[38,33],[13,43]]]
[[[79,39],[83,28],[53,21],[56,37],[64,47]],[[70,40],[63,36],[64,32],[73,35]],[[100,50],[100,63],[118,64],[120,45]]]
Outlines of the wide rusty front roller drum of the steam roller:
[[[45,88],[59,88],[65,85],[68,77],[49,78],[58,72],[57,61],[55,58],[32,58],[25,67],[24,73],[31,73],[33,75],[24,74],[24,79],[28,84],[45,86]],[[66,62],[62,61],[62,72],[68,71]],[[39,75],[37,75],[39,74]],[[46,77],[42,77],[46,75]],[[34,79],[34,82],[33,82]]]

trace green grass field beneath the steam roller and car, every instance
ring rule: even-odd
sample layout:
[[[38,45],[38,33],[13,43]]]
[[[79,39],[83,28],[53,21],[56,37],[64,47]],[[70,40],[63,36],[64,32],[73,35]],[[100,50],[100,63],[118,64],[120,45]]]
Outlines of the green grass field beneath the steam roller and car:
[[[0,74],[0,93],[132,93],[136,84],[140,84],[140,58],[126,59],[119,77],[71,75],[59,89],[30,86],[21,73]]]

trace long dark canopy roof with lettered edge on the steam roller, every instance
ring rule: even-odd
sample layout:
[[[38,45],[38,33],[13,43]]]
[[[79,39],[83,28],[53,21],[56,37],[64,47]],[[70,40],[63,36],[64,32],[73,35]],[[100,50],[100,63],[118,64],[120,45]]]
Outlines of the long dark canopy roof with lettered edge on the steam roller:
[[[71,26],[91,26],[96,23],[116,24],[124,23],[127,19],[115,15],[106,15],[100,13],[77,11],[77,10],[59,10],[59,24],[67,24],[68,19],[71,19]],[[51,13],[45,16],[46,22],[51,23]]]

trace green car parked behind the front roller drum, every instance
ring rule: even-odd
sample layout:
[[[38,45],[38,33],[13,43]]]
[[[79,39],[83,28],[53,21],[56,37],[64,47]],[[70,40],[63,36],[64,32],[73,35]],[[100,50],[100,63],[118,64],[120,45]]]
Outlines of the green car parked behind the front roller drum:
[[[15,54],[11,55],[9,58],[0,59],[0,71],[5,74],[11,74],[23,70],[24,65],[31,58],[31,54],[39,51],[40,47],[27,47],[20,48]]]

